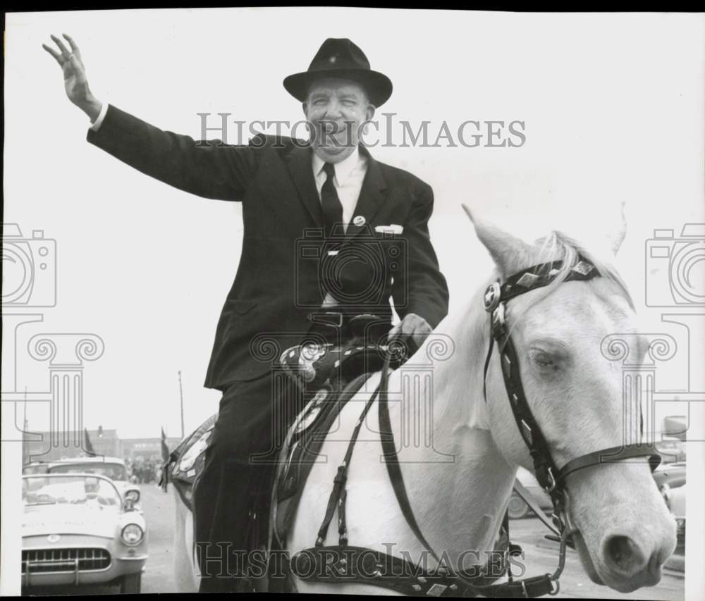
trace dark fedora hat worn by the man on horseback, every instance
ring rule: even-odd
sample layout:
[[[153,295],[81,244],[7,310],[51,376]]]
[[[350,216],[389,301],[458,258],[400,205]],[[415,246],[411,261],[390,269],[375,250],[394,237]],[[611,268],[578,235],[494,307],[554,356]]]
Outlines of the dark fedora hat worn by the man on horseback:
[[[303,102],[307,98],[311,83],[321,78],[342,78],[359,83],[374,106],[381,106],[392,94],[392,82],[389,78],[370,69],[364,52],[345,37],[326,39],[313,57],[308,70],[289,75],[283,83],[289,94]]]

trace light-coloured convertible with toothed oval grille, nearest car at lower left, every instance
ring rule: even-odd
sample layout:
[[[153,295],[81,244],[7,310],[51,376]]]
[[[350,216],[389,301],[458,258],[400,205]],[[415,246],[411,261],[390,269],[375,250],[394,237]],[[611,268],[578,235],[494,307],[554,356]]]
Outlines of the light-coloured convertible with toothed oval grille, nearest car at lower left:
[[[147,561],[147,526],[123,496],[97,474],[22,477],[23,589],[53,585],[119,584],[139,593]]]

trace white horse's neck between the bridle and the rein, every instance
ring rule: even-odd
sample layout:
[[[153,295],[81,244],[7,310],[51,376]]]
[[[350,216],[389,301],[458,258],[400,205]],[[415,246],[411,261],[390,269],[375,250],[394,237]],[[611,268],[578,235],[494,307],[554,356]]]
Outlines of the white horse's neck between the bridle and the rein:
[[[494,547],[515,477],[515,467],[494,443],[486,413],[483,380],[488,330],[482,297],[477,295],[462,314],[446,318],[419,349],[417,357],[426,357],[428,345],[439,337],[455,343],[450,357],[433,366],[431,398],[429,392],[422,392],[423,385],[417,385],[420,392],[405,392],[401,403],[389,403],[398,449],[404,415],[415,414],[422,422],[421,432],[431,434],[432,444],[424,444],[423,435],[418,445],[402,444],[399,457],[419,527],[431,547],[438,553],[445,551],[451,560],[462,552],[467,557],[469,550]],[[412,357],[393,374],[394,379],[404,378],[404,369],[415,373],[417,362]],[[419,401],[419,396],[424,399]],[[424,428],[428,418],[423,407],[429,406],[432,424]],[[408,433],[405,436],[410,439]]]

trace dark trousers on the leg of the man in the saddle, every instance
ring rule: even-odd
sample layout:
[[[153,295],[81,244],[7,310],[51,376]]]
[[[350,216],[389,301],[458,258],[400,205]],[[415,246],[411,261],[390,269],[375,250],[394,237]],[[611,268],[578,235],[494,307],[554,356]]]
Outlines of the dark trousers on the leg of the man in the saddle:
[[[204,469],[193,492],[201,592],[243,590],[252,552],[253,496],[267,486],[286,430],[301,404],[293,380],[273,371],[223,390]],[[269,514],[259,519],[267,521]],[[266,541],[262,541],[266,544]],[[251,557],[251,556],[250,556]]]

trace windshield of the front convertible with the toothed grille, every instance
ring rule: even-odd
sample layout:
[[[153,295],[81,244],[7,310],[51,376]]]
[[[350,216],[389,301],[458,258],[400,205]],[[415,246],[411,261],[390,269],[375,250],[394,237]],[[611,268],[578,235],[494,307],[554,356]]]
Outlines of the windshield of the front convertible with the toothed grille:
[[[76,504],[85,507],[121,507],[115,485],[106,478],[51,474],[23,476],[22,502],[30,505]]]

